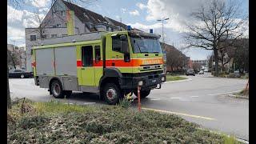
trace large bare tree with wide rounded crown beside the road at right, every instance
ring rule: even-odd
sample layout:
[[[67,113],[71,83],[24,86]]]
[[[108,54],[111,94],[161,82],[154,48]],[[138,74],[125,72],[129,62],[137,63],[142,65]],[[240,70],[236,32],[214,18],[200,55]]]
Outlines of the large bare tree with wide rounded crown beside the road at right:
[[[185,35],[186,42],[196,48],[203,48],[214,51],[215,74],[218,76],[218,55],[220,46],[226,39],[237,39],[242,36],[241,29],[247,17],[239,11],[241,6],[238,2],[230,1],[228,4],[219,0],[211,0],[209,5],[192,13],[196,20],[194,25],[187,25],[190,32]]]

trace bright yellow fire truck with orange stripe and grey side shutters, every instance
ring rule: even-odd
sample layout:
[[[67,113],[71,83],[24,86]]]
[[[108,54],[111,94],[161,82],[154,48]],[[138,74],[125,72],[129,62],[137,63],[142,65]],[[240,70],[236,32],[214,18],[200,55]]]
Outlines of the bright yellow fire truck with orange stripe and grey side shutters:
[[[54,98],[98,93],[114,105],[125,94],[146,98],[166,81],[160,35],[138,30],[92,32],[40,40],[32,49],[34,82]]]

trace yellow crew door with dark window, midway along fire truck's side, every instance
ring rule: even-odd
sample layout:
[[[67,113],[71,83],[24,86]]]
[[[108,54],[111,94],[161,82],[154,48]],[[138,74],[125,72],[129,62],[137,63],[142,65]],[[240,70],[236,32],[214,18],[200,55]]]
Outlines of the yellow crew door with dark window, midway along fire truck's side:
[[[83,86],[95,86],[94,49],[93,46],[82,46],[81,78]]]

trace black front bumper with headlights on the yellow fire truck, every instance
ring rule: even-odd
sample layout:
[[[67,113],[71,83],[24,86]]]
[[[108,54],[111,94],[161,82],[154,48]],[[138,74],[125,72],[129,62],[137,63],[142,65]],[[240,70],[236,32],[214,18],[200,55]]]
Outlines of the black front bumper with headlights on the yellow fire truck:
[[[154,89],[161,84],[166,82],[166,74],[151,74],[141,77],[122,77],[120,86],[122,89],[137,89],[138,82],[142,81],[142,89]]]

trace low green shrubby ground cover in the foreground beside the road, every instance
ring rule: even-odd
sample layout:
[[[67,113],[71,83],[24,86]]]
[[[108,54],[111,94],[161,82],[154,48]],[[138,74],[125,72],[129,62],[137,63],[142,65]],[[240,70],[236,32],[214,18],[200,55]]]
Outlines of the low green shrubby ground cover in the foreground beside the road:
[[[21,114],[20,110],[26,109]],[[122,106],[17,102],[8,111],[8,143],[230,143],[173,114]]]

